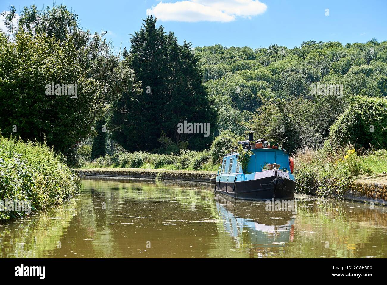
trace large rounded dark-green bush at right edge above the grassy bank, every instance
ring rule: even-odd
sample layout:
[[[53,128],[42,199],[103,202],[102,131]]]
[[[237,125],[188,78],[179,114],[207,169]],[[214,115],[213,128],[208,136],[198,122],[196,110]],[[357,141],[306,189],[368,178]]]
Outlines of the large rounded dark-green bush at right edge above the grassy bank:
[[[330,129],[325,146],[387,148],[387,100],[356,96]]]

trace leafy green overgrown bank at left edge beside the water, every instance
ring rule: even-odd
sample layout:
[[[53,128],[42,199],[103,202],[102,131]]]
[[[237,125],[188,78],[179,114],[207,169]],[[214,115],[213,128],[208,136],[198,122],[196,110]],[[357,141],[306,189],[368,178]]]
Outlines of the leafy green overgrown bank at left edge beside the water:
[[[79,177],[64,162],[46,144],[0,136],[0,200],[31,201],[31,211],[62,204],[80,190]],[[0,208],[0,221],[26,214],[5,204]]]

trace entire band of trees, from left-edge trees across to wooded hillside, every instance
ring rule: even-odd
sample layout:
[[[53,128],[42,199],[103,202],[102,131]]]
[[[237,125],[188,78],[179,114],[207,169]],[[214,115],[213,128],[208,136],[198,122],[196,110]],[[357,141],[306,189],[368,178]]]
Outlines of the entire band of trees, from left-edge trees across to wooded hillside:
[[[9,34],[0,31],[4,136],[46,140],[65,155],[94,141],[92,158],[104,156],[106,137],[127,151],[178,153],[208,149],[214,137],[212,146],[227,141],[228,148],[248,129],[291,151],[327,138],[354,143],[354,132],[384,147],[380,122],[387,114],[371,106],[384,106],[387,96],[385,41],[192,48],[149,16],[131,34],[130,48],[114,54],[104,33],[80,28],[64,5],[24,7],[17,26],[15,13],[12,6],[5,15]],[[184,121],[209,123],[209,136],[181,134]],[[379,129],[365,133],[365,124]]]

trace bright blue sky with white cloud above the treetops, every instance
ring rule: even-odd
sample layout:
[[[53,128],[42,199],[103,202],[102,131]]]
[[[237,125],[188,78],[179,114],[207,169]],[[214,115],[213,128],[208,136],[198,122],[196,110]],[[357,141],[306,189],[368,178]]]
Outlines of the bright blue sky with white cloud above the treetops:
[[[283,1],[283,0],[65,0],[79,16],[80,26],[109,31],[115,48],[130,47],[129,33],[138,31],[148,13],[156,14],[166,31],[180,43],[193,46],[266,47],[278,44],[293,48],[303,41],[341,41],[344,45],[372,38],[387,40],[387,1]],[[22,9],[42,0],[2,0],[0,11],[10,5]],[[329,15],[326,9],[329,9]],[[161,20],[164,21],[161,21]],[[205,20],[205,21],[201,21]],[[1,25],[1,23],[0,23]]]

